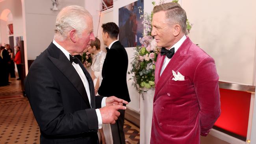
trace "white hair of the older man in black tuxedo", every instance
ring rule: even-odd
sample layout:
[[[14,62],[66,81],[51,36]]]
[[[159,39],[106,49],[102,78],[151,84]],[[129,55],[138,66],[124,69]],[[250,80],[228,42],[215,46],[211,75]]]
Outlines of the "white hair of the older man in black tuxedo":
[[[92,18],[91,14],[81,6],[67,6],[61,9],[56,18],[56,29],[54,39],[63,41],[67,37],[67,33],[75,29],[78,37],[82,36],[82,31],[87,28],[86,19]]]

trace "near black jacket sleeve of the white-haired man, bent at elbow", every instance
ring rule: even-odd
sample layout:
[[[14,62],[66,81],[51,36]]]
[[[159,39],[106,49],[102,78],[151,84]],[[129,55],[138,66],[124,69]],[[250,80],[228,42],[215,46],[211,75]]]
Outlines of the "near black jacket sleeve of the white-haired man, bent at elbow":
[[[65,112],[59,83],[48,68],[39,63],[30,67],[25,79],[25,92],[41,132],[51,136],[70,136],[97,132],[95,109]]]

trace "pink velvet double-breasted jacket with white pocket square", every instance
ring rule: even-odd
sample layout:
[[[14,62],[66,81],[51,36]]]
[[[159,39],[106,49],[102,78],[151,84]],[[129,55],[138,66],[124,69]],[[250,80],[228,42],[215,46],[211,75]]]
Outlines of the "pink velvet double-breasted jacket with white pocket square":
[[[193,44],[183,42],[160,76],[165,55],[156,62],[151,144],[200,144],[219,117],[219,76],[214,59]],[[184,81],[174,81],[180,72]]]

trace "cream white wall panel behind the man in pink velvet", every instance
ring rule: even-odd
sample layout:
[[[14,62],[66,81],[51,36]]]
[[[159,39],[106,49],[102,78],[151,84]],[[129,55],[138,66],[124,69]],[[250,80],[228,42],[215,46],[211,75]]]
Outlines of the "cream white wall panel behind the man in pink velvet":
[[[256,1],[182,0],[189,37],[210,54],[220,80],[253,84]]]

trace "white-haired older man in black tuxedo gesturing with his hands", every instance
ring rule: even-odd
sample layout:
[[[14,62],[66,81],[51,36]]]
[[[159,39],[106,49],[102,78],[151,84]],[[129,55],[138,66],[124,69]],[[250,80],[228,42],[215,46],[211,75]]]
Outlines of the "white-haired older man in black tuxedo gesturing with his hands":
[[[54,40],[32,63],[25,90],[40,127],[41,144],[99,144],[102,123],[114,124],[128,102],[95,96],[93,80],[73,55],[95,40],[90,13],[64,7],[56,19]],[[100,108],[102,107],[102,108]]]

